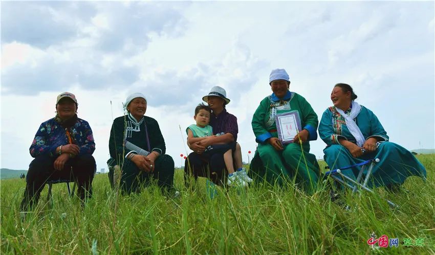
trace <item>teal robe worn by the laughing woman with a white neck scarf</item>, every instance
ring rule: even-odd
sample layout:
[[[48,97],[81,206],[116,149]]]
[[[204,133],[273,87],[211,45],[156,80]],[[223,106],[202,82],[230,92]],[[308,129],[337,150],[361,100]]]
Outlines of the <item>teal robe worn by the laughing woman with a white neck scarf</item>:
[[[351,108],[345,111],[351,113]],[[408,150],[392,142],[388,142],[388,135],[379,122],[376,115],[369,109],[361,106],[361,111],[354,120],[361,130],[365,140],[376,137],[379,147],[374,152],[366,152],[359,158],[355,158],[344,146],[338,143],[338,138],[342,137],[356,144],[355,137],[347,129],[344,118],[337,112],[334,106],[329,107],[323,112],[319,125],[320,138],[327,144],[323,150],[324,159],[331,169],[351,166],[362,163],[365,160],[379,158],[379,163],[375,165],[372,172],[373,187],[388,184],[402,184],[411,175],[426,178],[426,169]],[[358,176],[359,168],[342,170],[342,172],[354,180]],[[365,168],[364,174],[366,174]]]

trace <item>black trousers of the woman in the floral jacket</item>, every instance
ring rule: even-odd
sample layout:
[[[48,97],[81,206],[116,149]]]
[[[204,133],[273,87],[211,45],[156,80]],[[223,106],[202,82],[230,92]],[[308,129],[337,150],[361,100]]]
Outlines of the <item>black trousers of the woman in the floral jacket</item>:
[[[92,194],[92,180],[95,173],[95,159],[86,154],[70,158],[63,170],[54,169],[55,157],[48,155],[38,156],[29,165],[26,176],[26,190],[21,202],[21,211],[27,211],[38,203],[42,189],[49,180],[74,180],[77,183],[77,195],[84,201]]]

